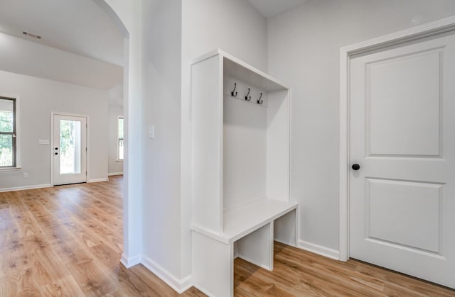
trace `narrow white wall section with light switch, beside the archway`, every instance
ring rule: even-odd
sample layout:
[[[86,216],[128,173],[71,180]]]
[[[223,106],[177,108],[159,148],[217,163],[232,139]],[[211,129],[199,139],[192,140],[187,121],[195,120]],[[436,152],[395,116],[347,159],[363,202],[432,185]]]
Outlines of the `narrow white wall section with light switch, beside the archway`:
[[[178,283],[181,275],[181,1],[144,1],[142,13],[142,262]],[[149,138],[149,125],[154,125],[154,139]]]

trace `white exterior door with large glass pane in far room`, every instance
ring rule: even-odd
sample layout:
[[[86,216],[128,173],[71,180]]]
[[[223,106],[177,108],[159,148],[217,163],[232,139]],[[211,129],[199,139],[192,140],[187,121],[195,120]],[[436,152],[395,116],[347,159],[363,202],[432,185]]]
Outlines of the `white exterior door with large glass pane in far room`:
[[[87,118],[53,116],[54,185],[87,181]]]

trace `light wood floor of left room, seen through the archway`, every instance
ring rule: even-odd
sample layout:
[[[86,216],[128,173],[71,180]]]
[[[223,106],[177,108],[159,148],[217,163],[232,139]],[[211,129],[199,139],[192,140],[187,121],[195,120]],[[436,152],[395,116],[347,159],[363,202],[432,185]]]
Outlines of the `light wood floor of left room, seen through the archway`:
[[[122,207],[122,176],[0,193],[0,296],[178,296],[119,263]]]

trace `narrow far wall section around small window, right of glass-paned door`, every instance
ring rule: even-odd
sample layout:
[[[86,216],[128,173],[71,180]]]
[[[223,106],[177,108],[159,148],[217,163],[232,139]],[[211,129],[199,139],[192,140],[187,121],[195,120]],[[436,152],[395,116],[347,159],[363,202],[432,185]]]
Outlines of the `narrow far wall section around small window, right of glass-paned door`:
[[[109,103],[109,114],[107,118],[107,149],[109,175],[123,173],[123,161],[117,160],[117,118],[123,116],[123,106]]]

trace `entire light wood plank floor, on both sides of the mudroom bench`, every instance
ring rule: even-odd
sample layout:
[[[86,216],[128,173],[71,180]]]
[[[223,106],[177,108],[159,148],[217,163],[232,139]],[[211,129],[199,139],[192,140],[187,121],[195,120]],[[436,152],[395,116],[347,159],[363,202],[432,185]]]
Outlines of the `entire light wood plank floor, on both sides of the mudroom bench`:
[[[141,265],[125,269],[122,177],[0,193],[0,296],[178,296]],[[235,296],[455,296],[350,260],[275,243],[274,271],[235,260]],[[190,288],[182,296],[205,296]]]

